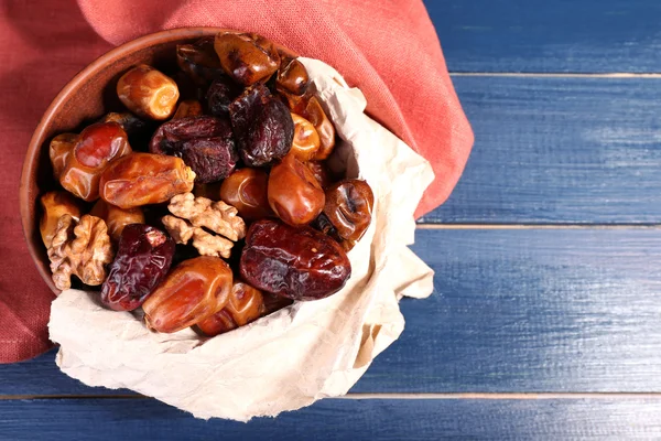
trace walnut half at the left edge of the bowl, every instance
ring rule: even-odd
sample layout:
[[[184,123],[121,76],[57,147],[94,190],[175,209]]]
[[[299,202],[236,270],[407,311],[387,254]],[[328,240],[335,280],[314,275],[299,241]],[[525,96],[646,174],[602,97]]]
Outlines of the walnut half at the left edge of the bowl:
[[[108,276],[106,265],[112,257],[108,228],[102,219],[85,215],[77,223],[65,214],[57,220],[48,247],[53,282],[57,289],[69,289],[72,276],[77,276],[85,284],[101,284]]]

